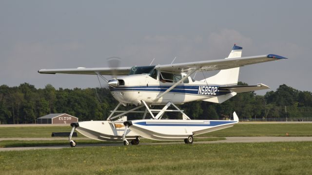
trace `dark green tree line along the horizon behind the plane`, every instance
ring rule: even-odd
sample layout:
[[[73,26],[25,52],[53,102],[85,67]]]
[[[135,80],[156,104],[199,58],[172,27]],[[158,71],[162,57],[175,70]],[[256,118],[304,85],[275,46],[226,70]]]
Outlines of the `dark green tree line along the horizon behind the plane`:
[[[239,82],[238,85],[247,84]],[[0,124],[36,123],[37,118],[50,113],[67,113],[78,117],[79,121],[105,120],[117,104],[107,88],[55,89],[52,85],[46,85],[37,89],[28,83],[19,87],[2,85]],[[276,91],[269,91],[265,95],[245,92],[222,104],[196,101],[179,107],[191,119],[203,120],[229,118],[234,111],[241,119],[312,117],[312,92],[280,85]],[[128,119],[139,116],[130,113]],[[167,113],[166,117],[178,118],[178,115],[172,112]]]

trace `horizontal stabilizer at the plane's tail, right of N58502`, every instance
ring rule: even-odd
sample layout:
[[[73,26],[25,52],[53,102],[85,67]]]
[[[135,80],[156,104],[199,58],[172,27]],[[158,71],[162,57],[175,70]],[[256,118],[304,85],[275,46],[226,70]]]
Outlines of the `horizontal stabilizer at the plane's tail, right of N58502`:
[[[263,84],[258,84],[256,86],[221,86],[218,89],[230,90],[232,92],[241,93],[241,92],[251,92],[255,90],[269,89],[269,87]]]

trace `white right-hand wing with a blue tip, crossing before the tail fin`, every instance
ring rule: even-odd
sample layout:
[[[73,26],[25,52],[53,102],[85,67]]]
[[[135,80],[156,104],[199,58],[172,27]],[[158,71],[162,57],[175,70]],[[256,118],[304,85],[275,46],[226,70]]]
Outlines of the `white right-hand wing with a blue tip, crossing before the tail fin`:
[[[190,72],[194,69],[197,71],[210,71],[210,70],[225,70],[231,68],[242,67],[245,65],[251,65],[256,63],[263,63],[267,61],[274,61],[280,59],[287,59],[283,56],[268,54],[259,56],[247,56],[231,59],[220,59],[220,60],[207,60],[197,61],[188,63],[176,63],[168,65],[158,65],[155,68],[157,70],[169,71],[169,72]]]

